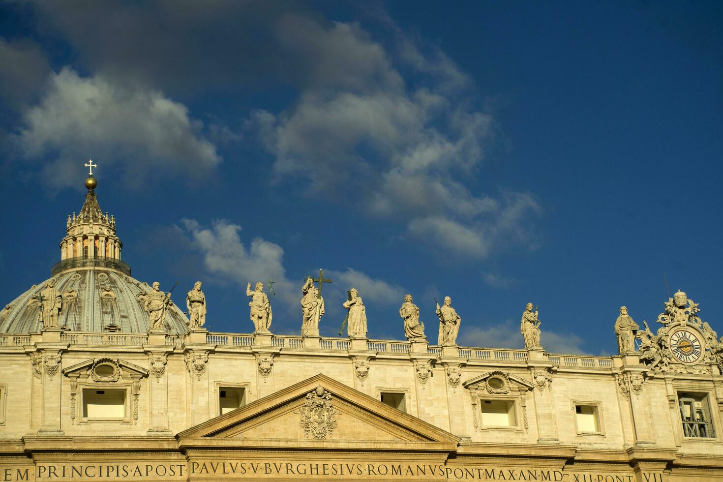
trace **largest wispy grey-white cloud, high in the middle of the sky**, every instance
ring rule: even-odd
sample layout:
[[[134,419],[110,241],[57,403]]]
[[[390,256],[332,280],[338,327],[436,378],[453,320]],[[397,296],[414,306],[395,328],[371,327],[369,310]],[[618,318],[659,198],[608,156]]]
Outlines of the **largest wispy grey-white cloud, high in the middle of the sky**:
[[[403,220],[406,234],[442,251],[485,257],[535,246],[529,193],[476,193],[492,116],[469,107],[466,77],[448,56],[392,25],[398,60],[356,24],[286,17],[283,48],[307,62],[298,102],[252,115],[278,180],[308,181],[364,214]],[[294,25],[294,28],[291,28]],[[413,81],[422,79],[419,86]]]

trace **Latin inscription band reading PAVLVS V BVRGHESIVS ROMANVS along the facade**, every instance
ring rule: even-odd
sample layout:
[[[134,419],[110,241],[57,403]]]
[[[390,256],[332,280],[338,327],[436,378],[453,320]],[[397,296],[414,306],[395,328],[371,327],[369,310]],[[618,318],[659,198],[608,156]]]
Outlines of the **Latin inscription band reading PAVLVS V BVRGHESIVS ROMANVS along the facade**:
[[[186,463],[38,464],[32,467],[0,466],[4,481],[142,481],[187,480],[188,477],[221,479],[263,478],[377,478],[385,480],[534,481],[534,482],[634,482],[633,475],[581,473],[536,468],[484,468],[442,464],[368,462],[262,462],[198,461]],[[645,482],[665,482],[662,474],[643,473]]]

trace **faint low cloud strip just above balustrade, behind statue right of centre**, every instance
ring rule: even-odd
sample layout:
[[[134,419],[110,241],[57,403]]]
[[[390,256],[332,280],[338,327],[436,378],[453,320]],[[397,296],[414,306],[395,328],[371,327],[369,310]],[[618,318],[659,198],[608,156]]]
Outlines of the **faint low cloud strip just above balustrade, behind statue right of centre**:
[[[520,325],[513,320],[488,326],[465,327],[462,320],[460,329],[460,340],[458,343],[464,346],[475,346],[482,348],[524,348],[524,340],[520,332]],[[540,344],[549,353],[568,353],[571,355],[589,355],[582,345],[584,340],[575,333],[558,333],[542,328]]]

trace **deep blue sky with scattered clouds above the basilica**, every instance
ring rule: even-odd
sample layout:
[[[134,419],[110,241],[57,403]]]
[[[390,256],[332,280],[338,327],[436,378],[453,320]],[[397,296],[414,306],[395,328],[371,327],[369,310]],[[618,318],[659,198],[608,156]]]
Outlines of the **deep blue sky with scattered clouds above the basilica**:
[[[714,329],[723,286],[719,2],[0,3],[0,294],[59,260],[85,168],[139,280],[204,282],[208,328],[298,333],[323,267],[369,335],[613,353],[669,289]]]

